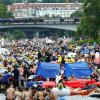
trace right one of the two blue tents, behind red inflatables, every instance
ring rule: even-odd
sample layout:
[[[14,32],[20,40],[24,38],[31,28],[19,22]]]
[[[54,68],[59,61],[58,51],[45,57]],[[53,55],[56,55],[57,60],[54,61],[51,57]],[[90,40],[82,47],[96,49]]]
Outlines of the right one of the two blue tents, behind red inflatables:
[[[88,78],[92,74],[92,70],[86,62],[75,62],[65,64],[65,76],[69,78],[72,74],[76,78]]]

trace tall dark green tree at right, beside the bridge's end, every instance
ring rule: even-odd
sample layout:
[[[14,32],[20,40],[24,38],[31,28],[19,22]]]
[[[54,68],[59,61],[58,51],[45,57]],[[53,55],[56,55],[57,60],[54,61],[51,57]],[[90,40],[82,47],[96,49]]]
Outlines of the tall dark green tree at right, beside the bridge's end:
[[[78,26],[77,33],[98,38],[100,30],[100,0],[84,0],[84,16]]]

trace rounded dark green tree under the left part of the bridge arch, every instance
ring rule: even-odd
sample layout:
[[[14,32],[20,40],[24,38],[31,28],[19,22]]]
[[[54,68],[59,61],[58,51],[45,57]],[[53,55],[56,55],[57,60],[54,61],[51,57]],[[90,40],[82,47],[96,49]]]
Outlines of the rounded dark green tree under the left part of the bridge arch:
[[[15,39],[25,39],[26,38],[26,33],[24,33],[21,30],[14,30],[12,35],[14,36]]]

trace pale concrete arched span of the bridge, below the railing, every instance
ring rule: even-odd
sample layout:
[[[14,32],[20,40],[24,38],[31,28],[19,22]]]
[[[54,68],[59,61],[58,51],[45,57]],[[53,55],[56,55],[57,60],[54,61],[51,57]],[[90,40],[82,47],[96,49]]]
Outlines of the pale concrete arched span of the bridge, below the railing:
[[[76,31],[78,24],[5,24],[0,25],[0,30],[6,29],[29,29],[29,28],[48,28],[48,29],[64,29],[64,30],[71,30]]]

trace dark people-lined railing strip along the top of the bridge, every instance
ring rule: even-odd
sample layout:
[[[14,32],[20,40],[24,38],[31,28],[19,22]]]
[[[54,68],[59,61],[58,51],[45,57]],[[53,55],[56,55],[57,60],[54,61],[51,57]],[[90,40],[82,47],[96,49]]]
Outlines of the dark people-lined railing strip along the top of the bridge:
[[[53,18],[53,19],[43,19],[43,18],[29,18],[29,19],[0,19],[0,25],[2,24],[77,24],[79,20],[72,18]]]

